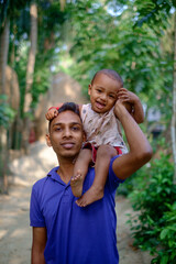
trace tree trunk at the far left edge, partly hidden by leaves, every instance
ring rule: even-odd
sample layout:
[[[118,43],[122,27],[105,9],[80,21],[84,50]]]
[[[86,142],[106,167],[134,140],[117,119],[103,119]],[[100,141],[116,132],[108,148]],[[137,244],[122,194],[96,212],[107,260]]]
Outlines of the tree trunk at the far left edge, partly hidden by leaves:
[[[6,94],[6,68],[8,64],[8,52],[9,52],[9,29],[10,21],[7,19],[4,23],[4,29],[0,35],[0,95]],[[7,130],[0,128],[0,174],[3,177],[3,193],[8,191],[8,139]]]

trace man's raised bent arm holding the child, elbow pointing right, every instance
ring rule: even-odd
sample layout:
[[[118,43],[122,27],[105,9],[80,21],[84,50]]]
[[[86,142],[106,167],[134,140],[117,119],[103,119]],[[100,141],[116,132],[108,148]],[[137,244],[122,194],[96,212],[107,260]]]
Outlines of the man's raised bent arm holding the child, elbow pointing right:
[[[112,168],[118,178],[125,179],[151,160],[152,148],[142,130],[120,100],[116,103],[116,112],[122,123],[130,151],[116,158]]]

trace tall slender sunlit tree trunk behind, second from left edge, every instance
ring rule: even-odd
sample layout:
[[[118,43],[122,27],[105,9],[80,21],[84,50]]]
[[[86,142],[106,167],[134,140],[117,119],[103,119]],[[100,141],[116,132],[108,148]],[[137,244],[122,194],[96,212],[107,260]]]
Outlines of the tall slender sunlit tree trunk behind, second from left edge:
[[[32,3],[30,8],[31,14],[31,47],[29,53],[29,61],[26,67],[26,85],[25,85],[25,97],[24,97],[24,130],[23,130],[23,147],[25,154],[29,151],[29,135],[30,135],[30,107],[32,102],[31,88],[33,85],[33,74],[35,66],[35,54],[37,45],[37,7],[36,3]]]

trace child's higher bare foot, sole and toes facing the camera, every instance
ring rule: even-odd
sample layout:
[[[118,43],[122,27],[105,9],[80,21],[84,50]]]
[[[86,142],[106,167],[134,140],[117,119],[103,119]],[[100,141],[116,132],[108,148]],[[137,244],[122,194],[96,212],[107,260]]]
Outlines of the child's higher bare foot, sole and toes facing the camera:
[[[84,178],[82,178],[80,172],[78,172],[76,176],[73,176],[70,178],[70,187],[72,187],[73,195],[75,197],[80,197],[81,196],[82,184],[84,184]]]

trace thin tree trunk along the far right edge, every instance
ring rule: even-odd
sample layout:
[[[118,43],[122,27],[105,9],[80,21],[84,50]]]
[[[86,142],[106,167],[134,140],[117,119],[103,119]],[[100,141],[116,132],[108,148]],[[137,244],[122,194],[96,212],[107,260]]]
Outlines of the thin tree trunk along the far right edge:
[[[176,11],[174,20],[174,81],[173,81],[173,118],[172,118],[172,144],[174,157],[174,183],[176,184]]]

